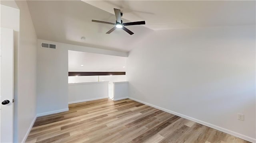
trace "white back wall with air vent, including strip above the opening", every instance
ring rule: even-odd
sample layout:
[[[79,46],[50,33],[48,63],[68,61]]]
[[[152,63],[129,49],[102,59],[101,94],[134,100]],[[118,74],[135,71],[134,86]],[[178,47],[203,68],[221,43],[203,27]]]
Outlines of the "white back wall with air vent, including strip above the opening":
[[[56,44],[56,50],[41,48],[41,43]],[[127,53],[69,45],[38,39],[37,113],[51,114],[68,108],[68,50],[127,57]],[[47,106],[46,106],[47,105]]]

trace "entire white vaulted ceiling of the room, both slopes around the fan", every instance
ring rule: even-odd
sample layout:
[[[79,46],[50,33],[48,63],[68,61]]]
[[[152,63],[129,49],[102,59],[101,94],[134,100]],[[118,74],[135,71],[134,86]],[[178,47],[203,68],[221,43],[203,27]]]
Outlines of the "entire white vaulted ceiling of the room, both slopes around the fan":
[[[130,51],[152,30],[213,26],[255,25],[255,1],[27,1],[39,39],[116,51]],[[127,26],[105,34],[115,22],[113,8],[120,8],[123,21],[145,20],[146,25]],[[80,38],[86,37],[85,41]]]

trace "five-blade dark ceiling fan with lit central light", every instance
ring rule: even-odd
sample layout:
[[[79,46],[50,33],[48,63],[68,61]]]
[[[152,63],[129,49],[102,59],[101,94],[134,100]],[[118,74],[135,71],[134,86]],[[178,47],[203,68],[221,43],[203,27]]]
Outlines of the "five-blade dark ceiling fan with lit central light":
[[[103,22],[103,21],[99,21],[99,20],[92,20],[92,22],[98,22],[98,23],[102,23],[102,24],[111,24],[111,25],[115,25],[115,27],[113,27],[112,29],[110,29],[107,34],[113,32],[116,28],[122,28],[124,31],[126,31],[127,33],[129,33],[130,35],[134,34],[132,31],[130,31],[129,29],[127,29],[124,26],[128,26],[128,25],[142,25],[142,24],[146,24],[145,21],[140,21],[140,22],[128,22],[128,23],[123,23],[123,21],[121,20],[121,17],[123,16],[123,13],[114,8],[114,12],[116,15],[116,23],[111,23],[111,22]]]

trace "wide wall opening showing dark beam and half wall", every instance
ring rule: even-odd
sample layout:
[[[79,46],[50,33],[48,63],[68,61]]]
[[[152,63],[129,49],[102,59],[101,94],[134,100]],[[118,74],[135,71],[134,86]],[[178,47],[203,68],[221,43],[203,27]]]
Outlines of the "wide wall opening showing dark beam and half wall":
[[[68,51],[69,104],[110,98],[113,82],[126,81],[126,59],[112,55]]]

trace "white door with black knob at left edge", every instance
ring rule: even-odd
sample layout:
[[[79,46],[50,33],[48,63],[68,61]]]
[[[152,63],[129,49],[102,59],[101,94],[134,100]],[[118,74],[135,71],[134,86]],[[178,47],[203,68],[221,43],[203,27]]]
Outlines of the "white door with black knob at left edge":
[[[0,142],[13,142],[14,31],[0,29]]]

